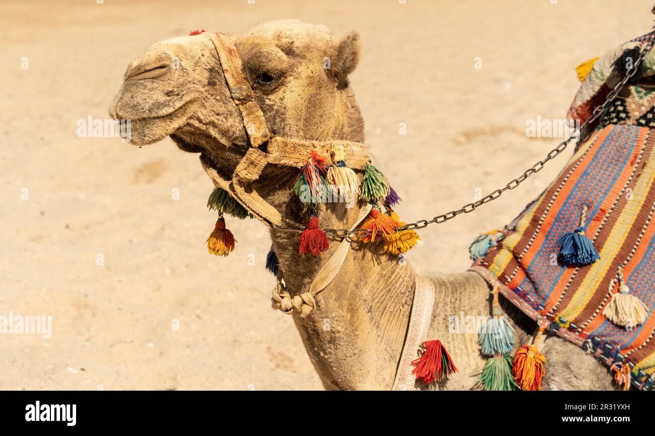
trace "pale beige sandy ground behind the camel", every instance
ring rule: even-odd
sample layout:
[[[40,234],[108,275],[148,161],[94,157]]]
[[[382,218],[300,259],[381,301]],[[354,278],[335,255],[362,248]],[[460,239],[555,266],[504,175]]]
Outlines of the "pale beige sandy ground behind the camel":
[[[53,332],[0,335],[0,389],[322,389],[291,318],[271,310],[263,225],[231,219],[233,255],[206,252],[215,215],[197,156],[168,138],[138,149],[76,135],[79,118],[108,117],[126,66],[151,43],[280,18],[339,37],[359,31],[352,86],[367,144],[405,198],[400,216],[415,221],[548,153],[557,139],[526,137],[526,120],[564,117],[574,67],[646,33],[652,5],[3,0],[0,315],[52,316]],[[425,228],[409,261],[422,273],[466,268],[477,232],[510,221],[566,158],[476,213]]]

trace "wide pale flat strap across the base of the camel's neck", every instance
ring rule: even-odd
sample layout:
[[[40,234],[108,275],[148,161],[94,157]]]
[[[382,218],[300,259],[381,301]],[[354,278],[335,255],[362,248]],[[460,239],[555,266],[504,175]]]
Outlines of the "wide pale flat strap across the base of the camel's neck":
[[[409,326],[403,350],[400,353],[398,369],[392,391],[414,390],[415,377],[411,373],[411,362],[416,359],[419,345],[424,342],[428,335],[428,329],[432,322],[432,308],[434,306],[434,284],[417,274],[414,283],[414,300],[409,312]]]

